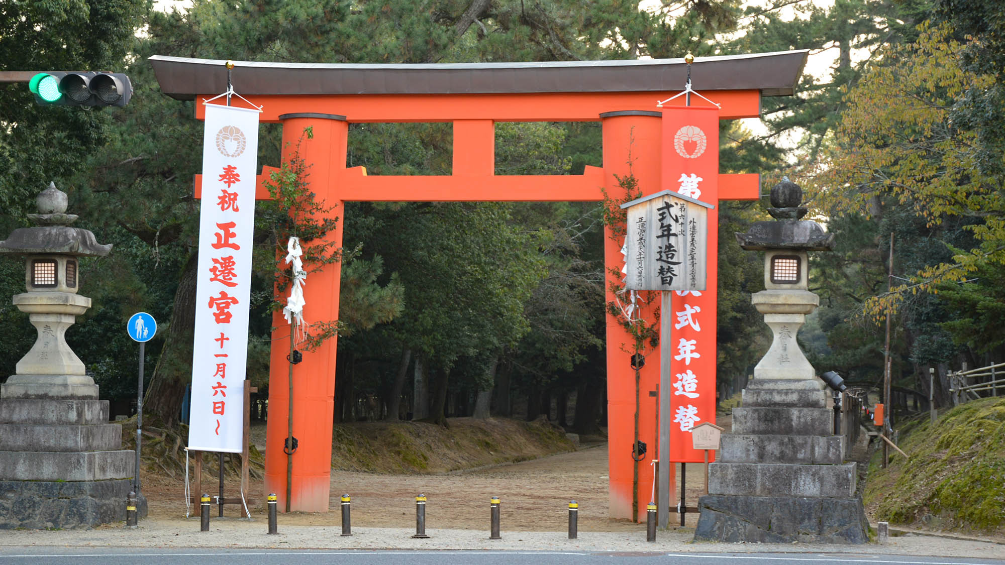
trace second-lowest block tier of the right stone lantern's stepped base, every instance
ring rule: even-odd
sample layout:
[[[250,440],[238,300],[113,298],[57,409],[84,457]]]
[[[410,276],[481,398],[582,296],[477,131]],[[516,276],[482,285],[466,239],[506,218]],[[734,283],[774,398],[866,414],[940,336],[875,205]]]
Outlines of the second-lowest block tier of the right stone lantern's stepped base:
[[[709,494],[851,497],[855,494],[855,463],[710,463]]]

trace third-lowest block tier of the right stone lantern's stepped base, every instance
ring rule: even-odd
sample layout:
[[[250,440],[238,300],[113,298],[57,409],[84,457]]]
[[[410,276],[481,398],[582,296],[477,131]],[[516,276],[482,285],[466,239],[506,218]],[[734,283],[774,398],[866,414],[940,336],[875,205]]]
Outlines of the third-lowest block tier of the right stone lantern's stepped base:
[[[844,462],[844,436],[727,433],[721,438],[717,460],[727,463],[839,464]]]

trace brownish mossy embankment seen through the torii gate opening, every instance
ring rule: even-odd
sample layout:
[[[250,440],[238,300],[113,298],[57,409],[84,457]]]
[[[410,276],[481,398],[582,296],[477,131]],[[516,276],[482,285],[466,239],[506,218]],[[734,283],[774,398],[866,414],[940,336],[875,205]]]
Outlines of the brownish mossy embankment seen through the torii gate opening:
[[[448,473],[575,449],[562,428],[543,419],[450,418],[449,424],[336,424],[332,467],[370,473]]]

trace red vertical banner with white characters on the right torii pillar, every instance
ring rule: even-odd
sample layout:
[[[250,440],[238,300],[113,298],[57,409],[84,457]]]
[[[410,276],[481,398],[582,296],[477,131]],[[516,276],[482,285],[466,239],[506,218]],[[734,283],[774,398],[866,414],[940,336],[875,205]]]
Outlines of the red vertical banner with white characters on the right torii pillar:
[[[670,419],[671,461],[700,462],[705,451],[691,447],[690,429],[716,421],[716,305],[719,249],[719,109],[663,107],[661,190],[670,190],[715,206],[709,210],[708,270],[705,291],[676,291],[671,312],[670,405],[660,417]],[[667,347],[668,345],[668,347]]]

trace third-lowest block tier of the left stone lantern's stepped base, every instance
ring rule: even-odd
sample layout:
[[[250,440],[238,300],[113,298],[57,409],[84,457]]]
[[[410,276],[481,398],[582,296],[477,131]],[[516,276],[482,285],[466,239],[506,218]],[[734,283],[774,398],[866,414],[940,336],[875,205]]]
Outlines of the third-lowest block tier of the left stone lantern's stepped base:
[[[120,424],[0,424],[0,451],[111,451],[122,446]]]

